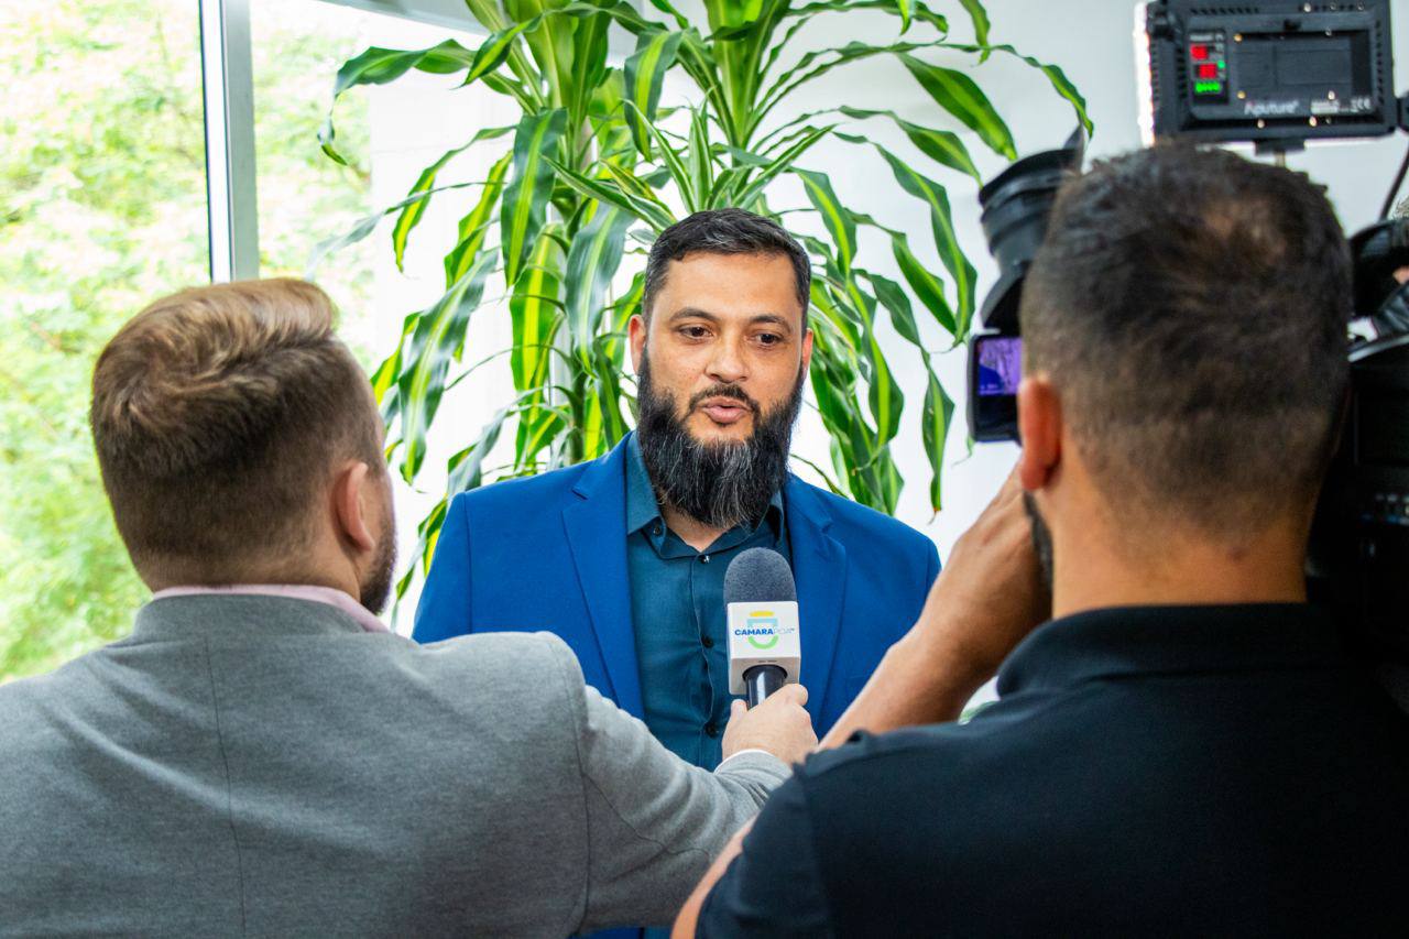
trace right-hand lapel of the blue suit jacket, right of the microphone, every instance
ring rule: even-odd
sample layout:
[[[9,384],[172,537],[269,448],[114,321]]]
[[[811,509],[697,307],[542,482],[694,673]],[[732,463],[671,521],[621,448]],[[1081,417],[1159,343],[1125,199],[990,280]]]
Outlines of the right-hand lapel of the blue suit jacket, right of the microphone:
[[[841,633],[841,603],[847,587],[847,548],[827,534],[831,515],[807,484],[788,478],[783,489],[793,577],[797,581],[797,619],[802,632],[802,684],[813,723],[826,713],[827,678]]]

